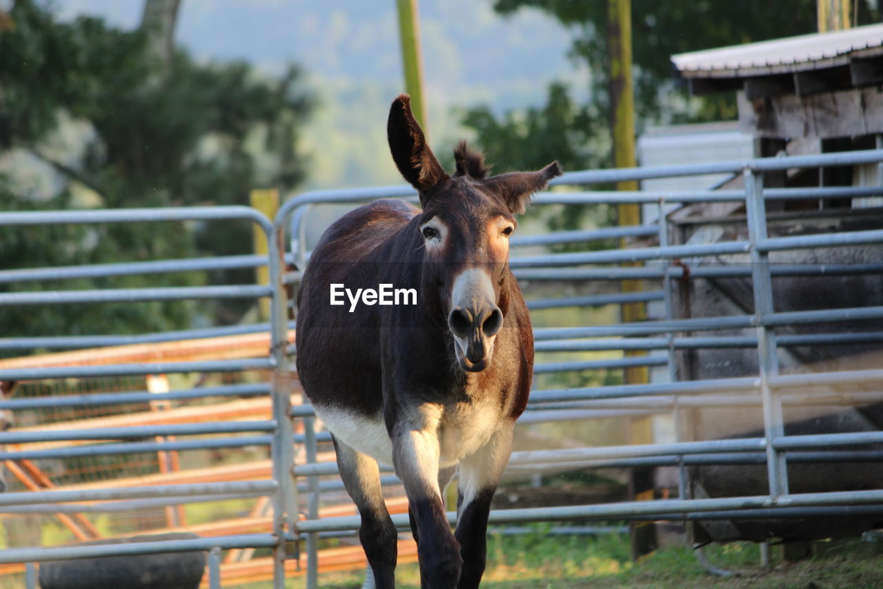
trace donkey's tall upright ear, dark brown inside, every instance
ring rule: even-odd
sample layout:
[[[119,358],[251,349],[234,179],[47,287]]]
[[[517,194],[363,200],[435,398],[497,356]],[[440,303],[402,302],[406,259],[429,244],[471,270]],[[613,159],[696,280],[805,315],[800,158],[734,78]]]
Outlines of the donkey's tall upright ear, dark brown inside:
[[[424,202],[426,190],[434,188],[449,176],[426,145],[426,137],[417,119],[411,114],[411,96],[403,94],[393,101],[387,122],[389,151],[404,180],[419,190],[420,204]]]

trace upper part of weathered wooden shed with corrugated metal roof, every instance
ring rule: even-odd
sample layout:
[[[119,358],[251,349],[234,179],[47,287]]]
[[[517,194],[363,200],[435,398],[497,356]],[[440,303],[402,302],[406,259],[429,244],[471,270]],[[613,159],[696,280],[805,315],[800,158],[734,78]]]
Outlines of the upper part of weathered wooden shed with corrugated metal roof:
[[[883,24],[682,53],[691,93],[736,90],[739,126],[760,138],[883,133]]]

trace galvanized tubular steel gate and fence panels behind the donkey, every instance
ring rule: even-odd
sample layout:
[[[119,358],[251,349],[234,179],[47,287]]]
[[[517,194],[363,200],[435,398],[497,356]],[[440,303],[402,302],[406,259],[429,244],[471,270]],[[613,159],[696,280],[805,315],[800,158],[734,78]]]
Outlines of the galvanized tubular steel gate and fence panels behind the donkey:
[[[624,446],[586,447],[558,451],[538,451],[516,453],[511,464],[526,466],[532,464],[555,464],[563,467],[599,468],[604,466],[674,466],[678,471],[678,499],[655,501],[631,501],[605,505],[581,507],[549,507],[538,509],[498,510],[491,514],[492,523],[512,523],[525,521],[552,521],[573,519],[617,519],[638,520],[686,520],[694,517],[723,517],[722,512],[741,514],[771,513],[774,510],[781,516],[805,516],[815,509],[836,514],[838,509],[847,506],[863,506],[867,513],[883,513],[883,488],[864,491],[844,491],[828,493],[789,493],[787,463],[789,456],[794,460],[862,460],[879,461],[881,453],[864,451],[838,451],[838,447],[855,447],[883,443],[883,432],[841,433],[808,436],[785,436],[783,429],[782,403],[795,402],[806,398],[827,398],[832,395],[830,386],[849,386],[850,383],[879,386],[883,383],[883,370],[828,371],[813,374],[782,375],[779,373],[777,349],[788,346],[841,344],[849,342],[881,342],[883,333],[809,333],[776,337],[776,330],[784,325],[813,325],[854,319],[883,318],[883,302],[858,308],[806,310],[777,312],[774,306],[773,279],[783,274],[803,273],[820,275],[832,272],[830,266],[804,264],[800,268],[786,268],[771,264],[771,252],[795,249],[832,248],[856,244],[883,243],[883,230],[872,229],[841,233],[816,233],[788,237],[770,237],[766,228],[766,203],[789,199],[844,199],[883,194],[880,187],[808,187],[808,188],[765,188],[766,173],[782,172],[798,168],[816,168],[839,165],[883,163],[883,150],[857,151],[839,154],[826,154],[811,157],[779,157],[756,159],[747,162],[725,162],[720,164],[685,165],[675,168],[638,168],[634,170],[608,170],[572,172],[553,181],[554,185],[592,185],[623,180],[648,180],[691,176],[708,173],[743,174],[744,190],[716,190],[698,192],[671,192],[666,194],[645,192],[547,192],[538,195],[534,205],[545,204],[584,204],[600,203],[652,203],[659,208],[660,219],[665,218],[668,205],[672,203],[743,203],[747,217],[747,239],[717,241],[686,245],[669,245],[668,226],[664,220],[655,225],[617,227],[597,230],[548,233],[539,236],[526,236],[513,239],[513,245],[524,247],[534,245],[562,244],[571,242],[603,241],[612,238],[653,237],[658,245],[630,249],[609,249],[600,251],[580,251],[573,253],[553,253],[537,256],[513,256],[511,266],[519,279],[534,282],[548,280],[617,281],[623,279],[651,279],[660,281],[660,290],[642,293],[622,293],[605,295],[577,295],[566,299],[544,299],[532,301],[532,309],[549,309],[565,306],[598,306],[630,302],[662,302],[664,317],[657,320],[634,324],[604,326],[573,326],[562,328],[540,328],[535,330],[538,352],[570,352],[592,350],[644,350],[647,356],[622,357],[608,360],[580,360],[556,363],[538,363],[537,373],[560,371],[582,371],[592,369],[623,369],[631,366],[662,366],[668,368],[670,382],[657,382],[638,385],[616,385],[584,388],[562,388],[535,390],[525,414],[526,420],[542,420],[548,409],[578,410],[585,417],[594,413],[603,414],[606,409],[642,409],[649,412],[668,412],[675,415],[683,407],[719,404],[722,406],[758,403],[763,409],[763,430],[761,437],[733,440],[681,441],[673,443]],[[248,361],[223,361],[201,363],[131,364],[89,368],[53,368],[28,371],[0,371],[0,380],[22,379],[61,379],[83,377],[96,374],[152,374],[160,372],[190,371],[239,371],[250,368],[272,368],[279,378],[267,385],[228,386],[215,389],[193,389],[164,394],[164,398],[176,399],[200,395],[226,394],[268,394],[273,399],[273,419],[264,422],[237,424],[177,425],[165,426],[162,431],[152,429],[148,435],[195,435],[208,432],[259,432],[260,435],[231,436],[224,440],[210,440],[216,446],[236,447],[252,444],[269,444],[272,447],[273,477],[269,480],[242,483],[210,483],[188,486],[141,487],[101,491],[80,492],[32,492],[6,493],[0,495],[0,511],[44,511],[57,512],[67,509],[76,511],[77,506],[65,507],[72,501],[152,501],[152,504],[170,504],[176,501],[205,501],[209,497],[231,495],[270,495],[273,500],[274,517],[272,530],[265,534],[206,538],[198,540],[178,540],[167,543],[143,543],[115,547],[50,547],[14,548],[0,552],[0,562],[36,562],[61,558],[89,557],[96,555],[144,554],[170,551],[209,550],[210,583],[219,586],[219,550],[235,547],[272,547],[275,555],[274,586],[283,587],[283,563],[291,556],[291,542],[306,538],[307,584],[317,584],[317,548],[320,532],[353,530],[358,527],[358,517],[319,518],[320,493],[331,488],[340,488],[339,482],[320,477],[336,473],[333,463],[315,463],[316,445],[328,440],[327,433],[316,433],[313,428],[313,413],[308,406],[289,406],[289,397],[284,378],[291,371],[291,354],[295,352],[288,334],[288,300],[286,287],[298,279],[298,272],[284,270],[284,250],[286,235],[291,225],[293,259],[299,268],[307,261],[306,241],[304,240],[304,219],[307,205],[322,203],[363,203],[379,197],[412,197],[410,187],[372,188],[362,190],[313,192],[298,195],[283,204],[273,222],[259,212],[246,207],[215,207],[194,209],[158,210],[90,210],[57,211],[48,213],[5,213],[0,215],[0,226],[46,225],[64,223],[117,223],[117,222],[156,222],[202,219],[250,219],[268,239],[269,259],[260,256],[232,256],[213,260],[178,260],[144,262],[140,264],[108,264],[103,266],[38,269],[33,271],[0,271],[0,281],[34,280],[61,277],[110,276],[136,272],[175,272],[180,270],[208,270],[212,268],[253,267],[268,264],[271,286],[237,287],[181,287],[145,288],[131,290],[74,291],[52,293],[26,293],[0,295],[0,306],[10,308],[22,304],[52,304],[69,302],[117,302],[155,301],[170,299],[204,299],[227,296],[269,297],[272,299],[272,319],[269,325],[252,325],[238,328],[216,328],[199,332],[155,334],[139,339],[118,336],[59,336],[57,338],[37,338],[31,340],[0,340],[3,348],[87,348],[137,340],[171,340],[184,337],[208,337],[224,333],[244,333],[266,329],[271,333],[271,354],[266,359]],[[691,265],[692,259],[707,256],[746,254],[750,267],[698,267]],[[653,266],[613,267],[590,264],[630,264],[635,262],[660,261]],[[837,272],[834,269],[834,272]],[[867,272],[879,275],[883,264],[858,264],[849,272]],[[753,314],[727,317],[677,318],[672,302],[674,281],[678,279],[707,279],[741,276],[751,279]],[[725,329],[751,329],[751,338],[744,336],[717,335],[683,336],[681,333],[714,332]],[[757,348],[759,371],[756,376],[730,379],[702,379],[677,381],[675,354],[683,349],[709,348]],[[653,354],[653,351],[658,351]],[[883,401],[880,388],[872,392],[841,393],[836,396],[845,403]],[[698,396],[701,395],[701,396]],[[78,402],[109,403],[137,399],[155,400],[157,395],[148,393],[95,394],[90,399]],[[23,409],[27,403],[64,403],[64,399],[9,400],[0,403],[3,409]],[[549,415],[549,414],[547,414]],[[304,419],[304,437],[293,437],[291,419]],[[144,435],[128,428],[127,432],[92,431],[89,440],[119,440]],[[20,441],[15,432],[0,433],[0,443]],[[84,439],[82,432],[57,432],[57,439]],[[303,443],[306,447],[307,463],[292,470],[292,442]],[[155,451],[156,449],[185,449],[207,447],[209,440],[188,440],[165,442],[162,448],[151,442],[85,446],[78,452],[119,453],[132,451]],[[814,448],[825,448],[826,452],[807,452]],[[67,451],[67,450],[65,450]],[[61,450],[33,452],[27,456],[10,452],[0,453],[0,459],[11,460],[22,457],[50,457],[64,455]],[[766,463],[768,493],[759,495],[728,497],[718,499],[692,499],[687,466],[691,464],[723,463]],[[297,486],[291,474],[306,478],[306,501],[298,501]],[[392,483],[393,478],[385,477],[384,482]],[[811,508],[811,509],[809,509]],[[306,519],[298,521],[298,513],[304,512]],[[407,528],[406,516],[394,516],[393,521]],[[33,568],[29,568],[29,586],[35,586]]]

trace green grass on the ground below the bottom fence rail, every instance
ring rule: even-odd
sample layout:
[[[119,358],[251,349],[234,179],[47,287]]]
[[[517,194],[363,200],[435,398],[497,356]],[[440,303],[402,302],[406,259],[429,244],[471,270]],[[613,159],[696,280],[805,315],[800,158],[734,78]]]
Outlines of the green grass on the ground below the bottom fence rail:
[[[687,547],[666,547],[640,562],[630,561],[628,535],[549,536],[546,525],[533,526],[524,536],[492,536],[488,541],[484,589],[872,589],[883,586],[883,548],[849,539],[818,542],[811,559],[783,562],[774,548],[773,566],[759,565],[758,545],[735,542],[706,548],[718,567],[740,573],[713,577],[699,566]],[[322,575],[323,588],[358,589],[362,573]],[[416,564],[396,570],[399,589],[419,589]],[[303,587],[292,579],[292,589]],[[250,589],[259,589],[254,585]]]

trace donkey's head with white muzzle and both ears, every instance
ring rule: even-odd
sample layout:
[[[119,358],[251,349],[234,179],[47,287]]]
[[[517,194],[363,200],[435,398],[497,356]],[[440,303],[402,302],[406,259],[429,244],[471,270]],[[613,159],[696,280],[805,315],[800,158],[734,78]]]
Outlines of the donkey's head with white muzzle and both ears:
[[[457,170],[449,175],[426,144],[410,103],[406,95],[392,103],[389,149],[399,172],[420,196],[424,272],[437,290],[457,362],[464,371],[483,371],[491,363],[494,339],[509,306],[506,280],[514,215],[525,212],[531,195],[560,176],[561,168],[554,162],[540,172],[487,178],[484,158],[461,142],[454,150]]]

